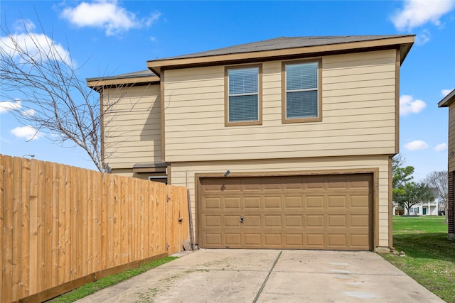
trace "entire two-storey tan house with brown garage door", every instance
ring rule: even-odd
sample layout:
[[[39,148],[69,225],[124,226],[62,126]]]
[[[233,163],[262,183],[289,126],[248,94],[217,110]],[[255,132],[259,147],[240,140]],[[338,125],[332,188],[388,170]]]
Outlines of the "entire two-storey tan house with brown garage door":
[[[400,65],[413,43],[276,38],[87,79],[110,107],[105,162],[188,186],[200,248],[391,247]]]

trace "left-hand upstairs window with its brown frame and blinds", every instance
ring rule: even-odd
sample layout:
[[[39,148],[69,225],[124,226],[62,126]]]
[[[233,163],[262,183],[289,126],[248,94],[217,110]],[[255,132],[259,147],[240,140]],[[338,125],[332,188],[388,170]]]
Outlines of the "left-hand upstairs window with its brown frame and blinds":
[[[262,67],[226,67],[225,124],[262,123]]]

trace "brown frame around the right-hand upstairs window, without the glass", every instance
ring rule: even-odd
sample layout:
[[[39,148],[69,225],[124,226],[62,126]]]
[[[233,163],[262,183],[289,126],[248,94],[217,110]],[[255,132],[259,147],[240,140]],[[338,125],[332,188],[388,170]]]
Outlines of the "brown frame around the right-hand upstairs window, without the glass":
[[[318,116],[311,118],[287,118],[287,83],[286,83],[286,66],[297,65],[304,63],[318,63]],[[320,122],[322,121],[322,58],[306,59],[306,60],[294,60],[294,61],[282,61],[282,123],[301,123],[301,122]]]

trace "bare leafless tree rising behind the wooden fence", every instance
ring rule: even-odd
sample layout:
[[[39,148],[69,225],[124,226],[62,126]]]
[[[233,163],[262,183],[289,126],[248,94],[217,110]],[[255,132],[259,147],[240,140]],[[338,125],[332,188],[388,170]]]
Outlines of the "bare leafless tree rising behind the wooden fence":
[[[98,170],[107,171],[101,153],[98,94],[77,77],[69,51],[47,35],[33,33],[30,23],[21,25],[21,33],[0,28],[1,99],[17,104],[9,110],[36,134],[80,146]]]

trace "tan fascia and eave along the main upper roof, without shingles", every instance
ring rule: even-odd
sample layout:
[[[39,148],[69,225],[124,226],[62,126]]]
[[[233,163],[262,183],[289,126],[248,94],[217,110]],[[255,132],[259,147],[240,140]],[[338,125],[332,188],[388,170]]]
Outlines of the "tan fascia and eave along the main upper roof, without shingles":
[[[336,43],[326,45],[314,45],[301,48],[283,48],[279,50],[261,50],[257,52],[232,53],[225,55],[211,55],[203,57],[173,58],[164,60],[149,60],[147,67],[156,75],[161,75],[163,68],[191,67],[197,65],[220,64],[223,62],[235,62],[239,60],[270,60],[274,57],[287,57],[292,55],[321,55],[323,53],[348,52],[350,50],[363,50],[368,48],[398,48],[400,47],[401,63],[405,60],[414,44],[414,35],[405,37],[393,37],[378,40],[360,42]]]

